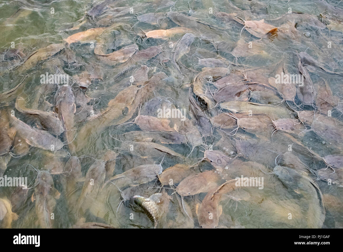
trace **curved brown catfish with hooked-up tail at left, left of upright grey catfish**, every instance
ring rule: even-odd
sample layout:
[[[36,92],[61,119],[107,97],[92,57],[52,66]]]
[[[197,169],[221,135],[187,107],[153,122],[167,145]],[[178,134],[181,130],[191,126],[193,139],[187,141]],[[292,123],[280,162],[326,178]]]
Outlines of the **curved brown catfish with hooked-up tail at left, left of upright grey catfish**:
[[[64,131],[61,121],[55,112],[45,112],[35,109],[28,109],[24,106],[24,98],[17,97],[15,108],[25,114],[37,117],[40,123],[50,131],[51,134],[59,136]]]

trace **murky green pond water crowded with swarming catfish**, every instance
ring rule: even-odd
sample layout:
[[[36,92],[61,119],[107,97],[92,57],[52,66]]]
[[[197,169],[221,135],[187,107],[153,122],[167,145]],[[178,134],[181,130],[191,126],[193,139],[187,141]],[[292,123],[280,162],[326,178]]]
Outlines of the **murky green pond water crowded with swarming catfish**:
[[[0,17],[0,175],[27,177],[28,187],[0,187],[1,227],[153,228],[132,197],[160,192],[157,228],[343,227],[343,2],[0,1]],[[109,28],[93,29],[101,27]],[[61,50],[46,49],[60,43]],[[137,50],[127,52],[133,44]],[[70,93],[61,93],[63,83],[42,83],[46,73],[68,75]],[[277,74],[303,75],[304,86],[278,84]],[[229,76],[239,80],[225,81],[231,88],[222,97],[219,83]],[[18,97],[26,108],[56,112],[67,131],[51,136],[51,148],[32,135],[46,132],[46,121],[20,112]],[[185,112],[159,118],[163,108]],[[276,128],[279,119],[292,123]],[[163,138],[167,131],[185,140]],[[211,151],[220,157],[203,160]],[[80,164],[70,166],[71,157]],[[154,164],[162,175],[131,170]],[[184,169],[163,177],[176,165]],[[206,171],[215,176],[198,180]],[[263,179],[262,188],[218,190],[241,176]],[[181,199],[182,181],[196,193]]]

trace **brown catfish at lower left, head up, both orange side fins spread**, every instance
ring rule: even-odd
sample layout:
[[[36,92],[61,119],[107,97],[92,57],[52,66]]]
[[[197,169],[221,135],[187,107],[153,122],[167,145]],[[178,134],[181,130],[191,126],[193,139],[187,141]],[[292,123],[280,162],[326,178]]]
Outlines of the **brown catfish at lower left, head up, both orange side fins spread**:
[[[36,205],[36,215],[40,228],[52,228],[51,214],[54,213],[56,199],[60,193],[54,187],[54,181],[48,171],[39,171],[36,179],[37,187],[32,194],[32,202]]]

